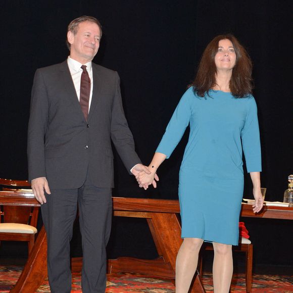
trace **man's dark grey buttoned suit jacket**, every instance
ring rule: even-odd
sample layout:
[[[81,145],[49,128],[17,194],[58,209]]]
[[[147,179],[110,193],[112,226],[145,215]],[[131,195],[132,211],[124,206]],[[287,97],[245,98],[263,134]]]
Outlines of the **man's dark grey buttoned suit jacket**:
[[[129,171],[140,163],[124,116],[117,72],[92,63],[86,122],[67,61],[36,71],[28,126],[29,180],[52,189],[79,188],[87,174],[97,187],[114,186],[111,139]]]

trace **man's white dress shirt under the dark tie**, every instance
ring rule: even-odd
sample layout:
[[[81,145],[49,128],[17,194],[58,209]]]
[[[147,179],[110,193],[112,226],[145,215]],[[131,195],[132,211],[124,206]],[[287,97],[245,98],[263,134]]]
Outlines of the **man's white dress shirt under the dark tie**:
[[[78,101],[79,101],[79,96],[80,96],[80,79],[81,79],[81,73],[82,73],[82,69],[81,69],[81,63],[79,63],[78,61],[70,58],[70,56],[68,56],[67,58],[67,64],[69,67],[69,71],[72,77],[72,81],[76,90],[76,94],[78,97]],[[91,66],[91,61],[87,62],[84,64],[86,66],[86,70],[88,72],[89,75],[89,79],[90,79],[90,94],[89,94],[89,102],[88,102],[88,111],[90,108],[90,103],[91,103],[91,98],[92,98],[92,66]]]

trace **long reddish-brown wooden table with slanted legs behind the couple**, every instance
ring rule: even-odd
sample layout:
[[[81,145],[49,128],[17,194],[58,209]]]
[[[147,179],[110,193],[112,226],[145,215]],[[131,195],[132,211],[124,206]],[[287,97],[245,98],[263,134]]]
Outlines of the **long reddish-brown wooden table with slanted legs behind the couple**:
[[[39,203],[28,193],[0,191],[0,205],[39,206]],[[109,260],[108,272],[138,272],[174,279],[176,255],[182,243],[181,227],[177,218],[180,212],[178,201],[113,198],[113,209],[114,216],[146,219],[159,258],[141,260],[123,257]],[[251,205],[242,204],[241,216],[292,220],[293,208],[265,206],[261,213],[255,215]],[[46,233],[42,227],[22,274],[11,292],[36,291],[47,275],[46,249]],[[80,271],[81,258],[73,259],[72,269]],[[205,292],[199,274],[194,279],[191,292]]]

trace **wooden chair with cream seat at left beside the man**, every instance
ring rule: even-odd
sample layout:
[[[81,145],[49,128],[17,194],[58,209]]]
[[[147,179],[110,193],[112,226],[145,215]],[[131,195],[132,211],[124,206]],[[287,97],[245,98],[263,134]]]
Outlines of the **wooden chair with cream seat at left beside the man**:
[[[0,190],[27,192],[23,189],[29,188],[28,181],[0,178]],[[0,206],[0,241],[27,241],[30,254],[37,233],[38,212],[38,207]]]

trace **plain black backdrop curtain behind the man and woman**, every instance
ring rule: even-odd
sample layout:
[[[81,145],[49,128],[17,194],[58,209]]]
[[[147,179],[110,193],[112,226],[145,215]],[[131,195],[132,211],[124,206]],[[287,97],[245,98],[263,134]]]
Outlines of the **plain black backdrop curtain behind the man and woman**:
[[[288,41],[292,35],[291,8],[289,0],[2,0],[0,177],[27,178],[26,131],[34,71],[64,61],[68,56],[68,23],[80,15],[92,15],[101,21],[104,32],[94,62],[118,71],[125,113],[137,153],[145,164],[150,162],[207,43],[217,34],[233,33],[254,63],[262,186],[267,187],[267,200],[282,201],[286,177],[293,172]],[[187,134],[159,169],[157,189],[139,189],[116,154],[113,195],[177,199],[178,172]],[[251,198],[252,185],[247,174],[245,182],[245,197]],[[255,263],[290,264],[289,221],[243,220],[255,245]],[[79,243],[74,242],[73,250],[80,250]],[[144,221],[114,220],[111,257],[148,258],[155,254]]]

